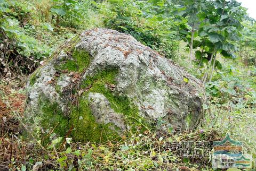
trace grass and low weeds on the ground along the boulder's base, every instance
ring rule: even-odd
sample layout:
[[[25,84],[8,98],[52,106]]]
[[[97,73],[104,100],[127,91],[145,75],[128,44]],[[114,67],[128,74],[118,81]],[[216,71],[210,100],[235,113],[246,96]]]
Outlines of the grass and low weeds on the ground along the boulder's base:
[[[1,134],[0,140],[3,145],[1,147],[5,147],[3,149],[5,155],[1,156],[1,163],[9,165],[11,169],[25,167],[25,165],[27,169],[31,169],[37,163],[40,164],[38,167],[41,169],[57,168],[57,170],[66,170],[70,167],[85,170],[165,170],[166,168],[170,170],[177,168],[180,170],[211,170],[211,166],[207,164],[207,158],[181,158],[175,152],[165,149],[166,144],[175,141],[218,140],[222,139],[226,133],[229,133],[233,139],[242,141],[246,152],[255,152],[255,119],[253,121],[255,108],[232,107],[229,110],[217,104],[209,105],[202,127],[182,134],[150,133],[148,131],[140,133],[138,130],[133,133],[133,136],[124,136],[116,143],[108,141],[100,144],[76,143],[70,138],[61,139],[55,143],[54,141],[58,138],[52,138],[51,142],[45,144],[44,147],[34,142],[34,148],[31,149],[26,141],[18,138],[20,121],[18,116],[22,116],[25,95],[10,87],[2,86],[0,90],[1,106],[8,109],[5,110],[4,116],[15,118],[17,121],[8,123],[9,128],[12,125],[13,129],[5,131],[4,135]],[[17,101],[21,102],[18,106],[15,105]],[[248,124],[249,119],[251,119],[250,124]],[[10,121],[10,119],[7,120]],[[27,156],[24,156],[24,150],[27,151]]]

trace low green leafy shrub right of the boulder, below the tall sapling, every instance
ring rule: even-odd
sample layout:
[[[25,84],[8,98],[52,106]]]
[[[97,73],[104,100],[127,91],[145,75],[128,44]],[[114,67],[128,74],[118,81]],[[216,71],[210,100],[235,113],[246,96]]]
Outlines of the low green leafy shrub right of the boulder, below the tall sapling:
[[[249,69],[250,70],[250,69]],[[243,71],[244,73],[246,71]],[[255,107],[256,91],[255,82],[247,78],[233,66],[225,67],[223,72],[218,72],[217,79],[206,84],[206,95],[215,104],[240,105],[243,107]],[[253,74],[253,73],[252,73]],[[251,78],[254,78],[251,76]]]

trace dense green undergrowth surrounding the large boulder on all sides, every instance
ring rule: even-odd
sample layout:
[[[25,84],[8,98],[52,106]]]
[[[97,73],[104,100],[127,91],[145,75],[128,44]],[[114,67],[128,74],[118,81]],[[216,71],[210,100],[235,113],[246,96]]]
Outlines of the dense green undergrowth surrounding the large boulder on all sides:
[[[202,12],[198,7],[202,4],[177,1],[180,5],[177,8],[177,4],[167,2],[171,1],[0,0],[0,167],[9,166],[12,170],[211,170],[209,158],[181,158],[165,149],[165,145],[174,141],[212,141],[227,133],[242,141],[244,151],[251,153],[255,161],[255,24],[237,19],[236,22],[244,25],[237,29],[240,37],[229,38],[228,33],[238,26],[220,23],[234,21],[229,11],[243,13],[236,3],[222,9],[220,4],[225,1],[217,1],[219,10],[214,14],[219,14],[214,16],[207,12],[213,10],[212,4],[208,4],[209,8],[204,6],[207,10]],[[197,24],[202,21],[209,23]],[[123,136],[115,144],[111,141],[76,143],[69,134],[56,138],[51,131],[43,138],[34,136],[30,143],[23,141],[20,127],[26,128],[21,122],[26,76],[55,49],[61,48],[66,39],[95,27],[128,33],[205,82],[209,102],[204,105],[202,125],[182,134],[154,133],[154,130],[139,133],[138,130],[137,134]],[[194,54],[191,58],[190,52]],[[50,141],[42,144],[45,138]]]

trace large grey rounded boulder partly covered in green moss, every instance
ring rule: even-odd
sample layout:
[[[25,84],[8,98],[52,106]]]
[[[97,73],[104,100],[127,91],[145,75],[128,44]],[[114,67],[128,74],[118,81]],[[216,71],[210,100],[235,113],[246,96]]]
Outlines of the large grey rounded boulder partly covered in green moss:
[[[83,32],[60,47],[27,84],[30,131],[104,141],[126,132],[193,129],[203,118],[203,84],[133,37]]]

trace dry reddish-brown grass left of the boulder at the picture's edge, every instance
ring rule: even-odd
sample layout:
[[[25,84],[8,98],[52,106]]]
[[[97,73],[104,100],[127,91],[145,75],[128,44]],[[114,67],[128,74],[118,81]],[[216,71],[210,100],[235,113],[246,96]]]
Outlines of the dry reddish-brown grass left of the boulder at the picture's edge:
[[[25,95],[0,85],[0,165],[26,157],[25,146],[18,141],[19,119],[25,106]],[[23,156],[23,157],[22,157]]]

